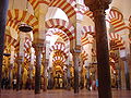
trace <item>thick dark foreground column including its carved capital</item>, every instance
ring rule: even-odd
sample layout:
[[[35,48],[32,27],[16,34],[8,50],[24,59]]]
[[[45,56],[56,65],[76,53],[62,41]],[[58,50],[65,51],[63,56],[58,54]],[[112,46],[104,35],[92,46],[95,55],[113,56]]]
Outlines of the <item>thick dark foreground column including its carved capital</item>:
[[[95,22],[99,98],[111,98],[109,53],[105,22],[105,10],[108,9],[110,2],[111,0],[85,0],[85,4],[93,11]]]

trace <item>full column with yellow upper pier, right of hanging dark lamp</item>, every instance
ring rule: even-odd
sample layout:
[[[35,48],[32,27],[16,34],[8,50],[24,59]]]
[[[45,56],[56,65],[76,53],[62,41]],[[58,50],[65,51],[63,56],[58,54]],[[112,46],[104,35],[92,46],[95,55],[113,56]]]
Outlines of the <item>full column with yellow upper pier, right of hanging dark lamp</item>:
[[[38,33],[34,34],[34,48],[36,53],[35,94],[40,93],[41,53],[46,40],[45,16],[48,10],[48,5],[45,3],[38,3],[37,7],[39,9],[35,12],[35,16],[38,19]]]

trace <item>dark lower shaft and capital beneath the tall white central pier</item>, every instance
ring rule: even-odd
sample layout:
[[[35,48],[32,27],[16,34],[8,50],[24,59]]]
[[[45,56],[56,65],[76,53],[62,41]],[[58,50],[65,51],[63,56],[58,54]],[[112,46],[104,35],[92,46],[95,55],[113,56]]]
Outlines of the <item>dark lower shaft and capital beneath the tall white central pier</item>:
[[[74,94],[79,93],[79,64],[80,64],[81,50],[74,49],[73,63],[74,63]]]

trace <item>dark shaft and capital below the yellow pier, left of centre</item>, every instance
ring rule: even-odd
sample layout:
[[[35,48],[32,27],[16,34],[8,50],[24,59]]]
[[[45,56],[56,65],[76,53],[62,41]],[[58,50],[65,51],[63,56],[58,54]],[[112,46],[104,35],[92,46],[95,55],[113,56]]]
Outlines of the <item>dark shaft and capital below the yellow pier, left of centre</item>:
[[[43,44],[35,44],[36,65],[35,65],[35,94],[40,94],[40,65],[41,65],[41,52]]]

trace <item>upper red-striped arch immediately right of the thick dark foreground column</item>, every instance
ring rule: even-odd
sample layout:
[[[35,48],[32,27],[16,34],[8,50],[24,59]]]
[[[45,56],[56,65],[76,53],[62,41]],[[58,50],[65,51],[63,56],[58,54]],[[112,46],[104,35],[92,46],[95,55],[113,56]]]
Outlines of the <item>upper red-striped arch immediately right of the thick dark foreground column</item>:
[[[115,33],[126,28],[123,15],[120,11],[111,9],[108,16],[108,22],[114,26]]]

